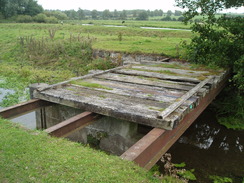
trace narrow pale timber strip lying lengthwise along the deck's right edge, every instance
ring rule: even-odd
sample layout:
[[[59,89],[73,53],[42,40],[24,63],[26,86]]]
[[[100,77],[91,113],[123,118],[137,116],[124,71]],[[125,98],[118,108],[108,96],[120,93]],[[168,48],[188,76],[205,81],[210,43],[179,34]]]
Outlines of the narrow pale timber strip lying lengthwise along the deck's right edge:
[[[180,105],[182,105],[186,100],[188,100],[192,95],[194,95],[200,88],[202,88],[204,85],[206,85],[210,80],[212,80],[214,76],[210,76],[204,81],[200,82],[198,85],[196,85],[194,88],[192,88],[189,92],[184,94],[182,97],[179,98],[178,102],[173,103],[170,105],[167,109],[165,109],[163,112],[158,114],[158,118],[165,119],[170,113],[175,111]]]

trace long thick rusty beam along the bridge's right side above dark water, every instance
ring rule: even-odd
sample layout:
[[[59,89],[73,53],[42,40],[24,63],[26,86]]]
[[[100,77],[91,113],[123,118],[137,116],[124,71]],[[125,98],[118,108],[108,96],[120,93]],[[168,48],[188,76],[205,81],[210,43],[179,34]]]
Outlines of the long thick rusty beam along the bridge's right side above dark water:
[[[203,97],[199,105],[188,113],[175,129],[171,131],[159,128],[152,129],[147,135],[124,152],[121,158],[134,161],[147,170],[152,168],[219,94],[227,80],[228,76],[226,76],[216,88],[212,89]]]

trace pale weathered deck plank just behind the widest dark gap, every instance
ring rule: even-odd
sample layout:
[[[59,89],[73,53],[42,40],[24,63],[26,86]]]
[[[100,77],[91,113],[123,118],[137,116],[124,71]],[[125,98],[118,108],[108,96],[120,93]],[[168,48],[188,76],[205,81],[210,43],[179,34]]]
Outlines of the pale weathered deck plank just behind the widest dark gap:
[[[113,71],[114,73],[120,73],[120,74],[127,74],[127,75],[133,75],[133,76],[146,76],[150,78],[158,78],[158,79],[166,79],[171,81],[183,81],[183,82],[192,82],[192,83],[199,83],[201,80],[197,78],[191,78],[191,77],[183,77],[183,76],[171,76],[167,74],[159,74],[154,72],[146,72],[146,71],[137,71],[137,70],[130,70],[130,69],[121,69]]]

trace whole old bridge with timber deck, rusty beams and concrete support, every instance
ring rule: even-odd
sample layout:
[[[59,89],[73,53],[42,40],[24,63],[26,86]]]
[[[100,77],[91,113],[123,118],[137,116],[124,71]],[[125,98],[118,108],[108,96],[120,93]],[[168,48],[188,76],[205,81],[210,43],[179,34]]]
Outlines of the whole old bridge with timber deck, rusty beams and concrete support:
[[[167,62],[164,62],[167,61]],[[223,89],[225,70],[143,61],[54,85],[31,86],[32,100],[0,111],[36,110],[38,129],[101,149],[150,169]]]

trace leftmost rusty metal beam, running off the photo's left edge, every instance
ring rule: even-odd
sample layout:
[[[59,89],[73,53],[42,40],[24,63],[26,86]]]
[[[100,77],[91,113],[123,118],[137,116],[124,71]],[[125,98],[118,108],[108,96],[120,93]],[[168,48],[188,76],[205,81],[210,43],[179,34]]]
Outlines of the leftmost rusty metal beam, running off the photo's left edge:
[[[20,103],[11,107],[4,108],[0,110],[0,116],[2,118],[15,118],[20,115],[24,115],[31,111],[34,111],[41,107],[46,107],[52,105],[51,102],[47,102],[40,99],[32,99],[24,103]]]

